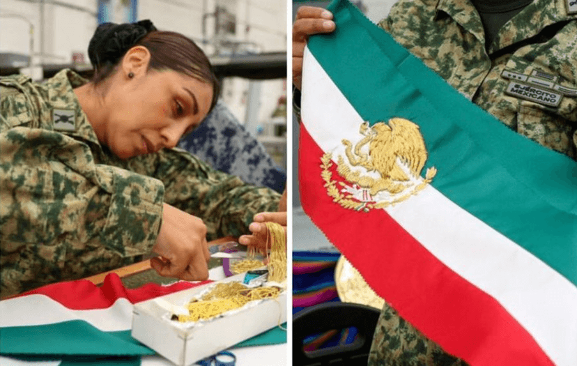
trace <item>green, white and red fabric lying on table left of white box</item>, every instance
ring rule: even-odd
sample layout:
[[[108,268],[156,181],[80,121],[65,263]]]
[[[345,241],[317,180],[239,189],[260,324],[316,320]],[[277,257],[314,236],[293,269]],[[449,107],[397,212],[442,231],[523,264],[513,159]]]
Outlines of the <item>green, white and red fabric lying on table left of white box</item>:
[[[49,365],[140,365],[142,356],[156,353],[130,336],[133,304],[206,283],[125,289],[113,273],[101,287],[88,280],[60,282],[2,300],[0,355],[9,357],[2,364],[20,358]]]

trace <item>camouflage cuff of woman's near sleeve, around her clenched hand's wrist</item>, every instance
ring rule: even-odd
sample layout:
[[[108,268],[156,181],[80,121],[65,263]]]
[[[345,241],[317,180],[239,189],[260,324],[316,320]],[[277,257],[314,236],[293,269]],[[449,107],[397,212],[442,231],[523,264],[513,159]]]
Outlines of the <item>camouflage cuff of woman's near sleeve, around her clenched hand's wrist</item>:
[[[103,243],[124,257],[151,252],[162,222],[164,185],[161,181],[124,169],[101,165],[109,175],[112,196]]]

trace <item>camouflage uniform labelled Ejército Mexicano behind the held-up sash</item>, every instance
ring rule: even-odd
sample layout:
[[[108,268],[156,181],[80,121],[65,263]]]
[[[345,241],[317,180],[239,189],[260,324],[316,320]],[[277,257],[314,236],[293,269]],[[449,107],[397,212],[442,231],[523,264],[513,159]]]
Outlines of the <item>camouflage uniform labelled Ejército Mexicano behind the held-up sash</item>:
[[[401,0],[379,26],[511,129],[577,159],[577,96],[564,94],[557,107],[544,105],[507,94],[511,77],[502,75],[504,70],[516,77],[544,73],[537,75],[541,81],[577,89],[577,14],[567,15],[566,2],[533,1],[500,29],[488,50],[481,19],[468,0]],[[465,364],[385,303],[369,366]]]

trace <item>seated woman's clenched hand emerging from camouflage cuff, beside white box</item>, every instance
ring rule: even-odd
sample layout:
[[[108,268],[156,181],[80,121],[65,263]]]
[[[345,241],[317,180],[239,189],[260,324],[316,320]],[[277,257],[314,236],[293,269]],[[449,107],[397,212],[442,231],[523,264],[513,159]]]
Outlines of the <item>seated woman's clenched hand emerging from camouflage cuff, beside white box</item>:
[[[198,281],[208,278],[206,226],[201,219],[164,204],[160,233],[153,247],[160,257],[151,266],[164,277]]]

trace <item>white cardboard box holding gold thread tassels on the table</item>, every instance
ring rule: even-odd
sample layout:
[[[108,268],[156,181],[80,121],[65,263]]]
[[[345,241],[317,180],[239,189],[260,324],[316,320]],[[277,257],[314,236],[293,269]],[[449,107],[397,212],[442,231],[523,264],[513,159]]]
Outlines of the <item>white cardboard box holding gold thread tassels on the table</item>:
[[[242,282],[243,277],[241,273],[219,282]],[[184,306],[215,283],[161,296],[160,302]],[[157,299],[134,305],[132,337],[180,366],[192,365],[286,321],[286,290],[277,298],[258,300],[197,323],[171,321],[170,311]]]

